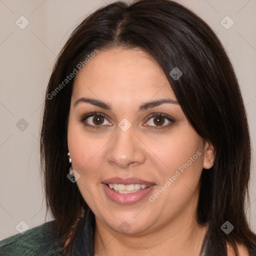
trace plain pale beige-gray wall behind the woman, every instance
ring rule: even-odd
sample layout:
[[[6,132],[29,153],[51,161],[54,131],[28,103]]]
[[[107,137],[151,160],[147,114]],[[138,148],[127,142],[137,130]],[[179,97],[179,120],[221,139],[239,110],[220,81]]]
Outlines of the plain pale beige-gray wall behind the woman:
[[[47,82],[67,36],[88,13],[110,2],[0,0],[0,239],[18,233],[16,226],[31,228],[44,222],[39,128]],[[177,2],[201,16],[226,48],[240,83],[254,149],[256,0]],[[23,29],[27,21],[20,18],[22,15],[29,22]],[[234,21],[231,27],[232,20],[224,18],[227,15]],[[256,231],[255,150],[252,156],[248,218]],[[50,219],[47,216],[46,221]]]

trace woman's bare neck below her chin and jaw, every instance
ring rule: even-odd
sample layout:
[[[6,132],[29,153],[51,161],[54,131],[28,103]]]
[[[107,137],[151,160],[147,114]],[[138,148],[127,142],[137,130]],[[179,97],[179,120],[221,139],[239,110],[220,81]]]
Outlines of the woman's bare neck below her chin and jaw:
[[[96,217],[94,253],[100,256],[130,255],[132,252],[140,256],[150,253],[199,256],[207,227],[197,223],[195,212],[196,207],[194,214],[182,213],[157,230],[139,235],[117,232]]]

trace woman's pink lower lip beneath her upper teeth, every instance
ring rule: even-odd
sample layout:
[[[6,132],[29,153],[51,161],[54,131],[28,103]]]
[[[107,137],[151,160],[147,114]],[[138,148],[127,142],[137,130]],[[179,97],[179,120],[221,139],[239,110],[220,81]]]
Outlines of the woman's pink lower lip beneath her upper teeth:
[[[115,192],[113,189],[111,189],[107,184],[102,183],[106,195],[114,202],[119,204],[129,204],[129,203],[135,203],[140,200],[142,200],[146,195],[155,187],[155,185],[150,185],[147,188],[138,190],[134,193],[126,193],[121,194],[118,192]]]

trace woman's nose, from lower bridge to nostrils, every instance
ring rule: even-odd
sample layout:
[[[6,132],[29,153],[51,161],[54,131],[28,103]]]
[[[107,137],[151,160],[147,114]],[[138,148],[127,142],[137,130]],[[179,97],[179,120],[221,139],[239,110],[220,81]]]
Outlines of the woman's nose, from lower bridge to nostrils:
[[[127,168],[142,164],[146,159],[143,143],[134,134],[132,126],[126,131],[117,128],[116,135],[109,142],[106,157],[112,165]]]

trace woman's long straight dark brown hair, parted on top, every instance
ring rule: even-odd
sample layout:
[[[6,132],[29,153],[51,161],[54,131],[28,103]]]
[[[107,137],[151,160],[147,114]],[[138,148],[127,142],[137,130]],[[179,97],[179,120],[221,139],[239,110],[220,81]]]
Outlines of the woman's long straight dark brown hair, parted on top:
[[[73,79],[63,84],[94,49],[141,48],[160,64],[187,119],[215,149],[214,166],[202,170],[197,221],[208,224],[207,256],[227,255],[229,243],[256,254],[256,235],[250,230],[248,204],[250,139],[244,104],[232,65],[219,39],[197,15],[169,0],[115,2],[93,12],[72,32],[59,53],[45,96],[41,126],[41,168],[47,211],[56,219],[59,239],[68,252],[76,222],[88,209],[76,183],[67,178],[67,122]],[[169,72],[178,67],[175,80]],[[55,91],[56,93],[52,93]],[[53,95],[54,94],[54,95]],[[246,204],[247,202],[247,204]],[[221,225],[234,229],[227,235]]]

